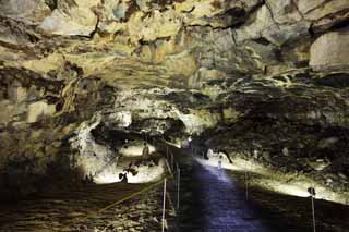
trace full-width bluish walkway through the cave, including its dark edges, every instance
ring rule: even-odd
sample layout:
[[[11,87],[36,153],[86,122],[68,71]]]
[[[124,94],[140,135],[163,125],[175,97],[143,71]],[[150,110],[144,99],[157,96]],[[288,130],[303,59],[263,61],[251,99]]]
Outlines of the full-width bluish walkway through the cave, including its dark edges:
[[[181,160],[183,193],[177,231],[285,231],[270,228],[268,219],[245,199],[244,190],[224,170],[206,166],[202,159],[186,157]]]

